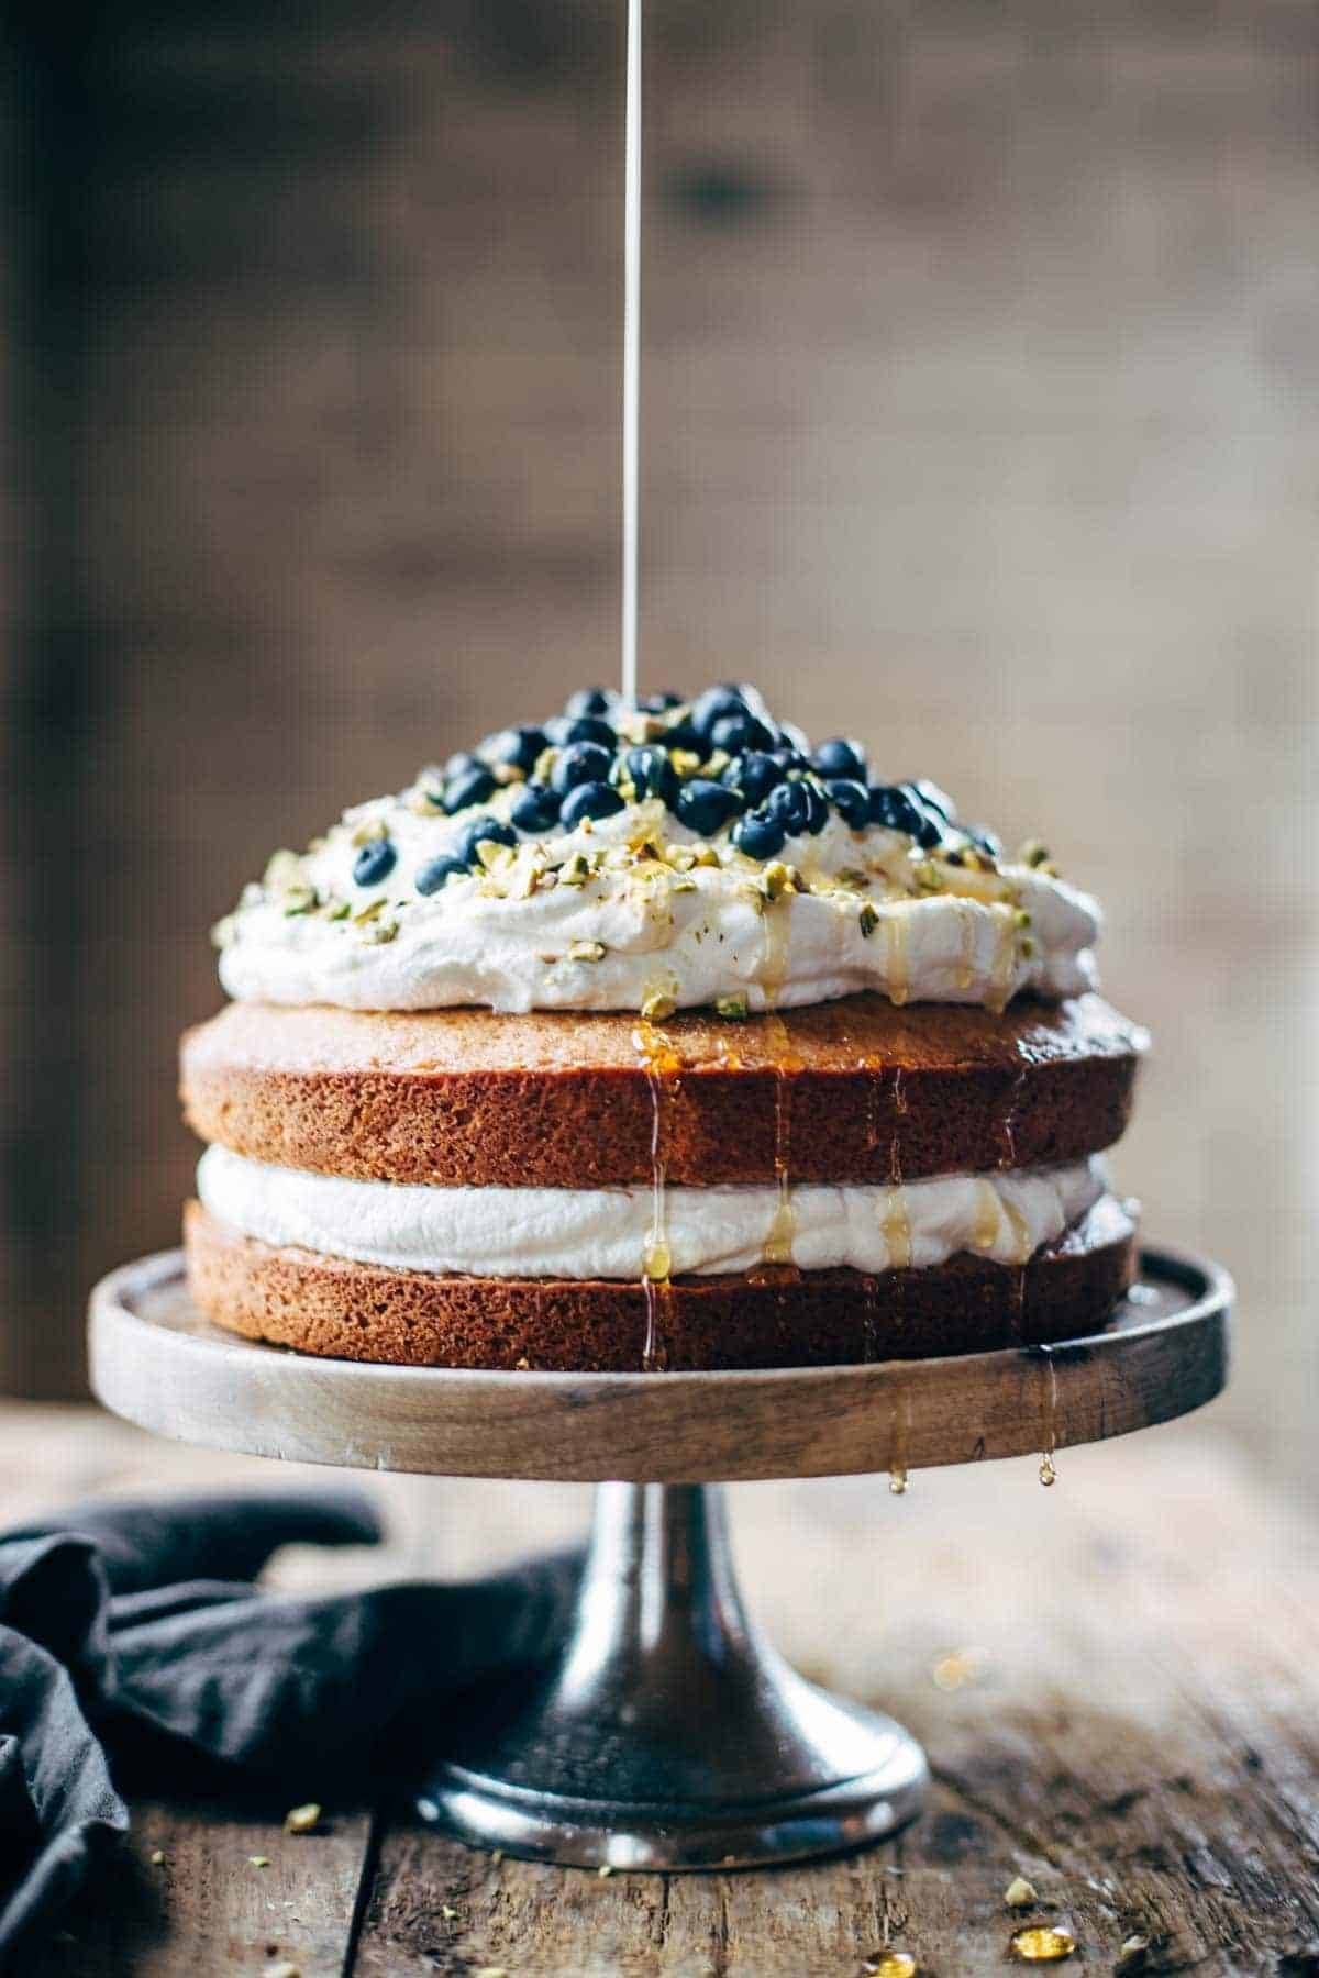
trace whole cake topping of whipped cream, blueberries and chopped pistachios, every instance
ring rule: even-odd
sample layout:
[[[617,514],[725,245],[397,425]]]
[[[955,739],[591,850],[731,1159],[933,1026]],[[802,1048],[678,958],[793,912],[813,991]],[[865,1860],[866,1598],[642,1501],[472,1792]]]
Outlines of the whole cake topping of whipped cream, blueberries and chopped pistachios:
[[[929,781],[811,748],[753,686],[573,694],[277,853],[220,924],[237,999],[346,1009],[747,1011],[1094,985],[1099,914]]]

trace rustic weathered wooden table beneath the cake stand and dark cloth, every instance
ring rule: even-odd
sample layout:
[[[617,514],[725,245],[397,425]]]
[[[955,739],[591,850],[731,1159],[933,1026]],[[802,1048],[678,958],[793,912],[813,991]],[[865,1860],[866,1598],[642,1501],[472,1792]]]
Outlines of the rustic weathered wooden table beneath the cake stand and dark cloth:
[[[14,1517],[87,1491],[279,1470],[156,1442],[95,1410],[0,1410]],[[579,1529],[585,1493],[372,1478],[384,1553],[289,1553],[285,1586],[467,1573]],[[746,1584],[809,1673],[896,1711],[933,1790],[892,1843],[801,1869],[655,1877],[496,1861],[388,1810],[136,1804],[127,1859],[69,1911],[32,1978],[858,1974],[890,1944],[925,1978],[1011,1968],[1022,1921],[1068,1970],[1319,1974],[1319,1525],[1270,1493],[1212,1414],[1034,1464],[742,1485]],[[255,1859],[253,1859],[255,1857]],[[257,1865],[263,1861],[267,1865]],[[1129,1948],[1123,1958],[1123,1944]]]

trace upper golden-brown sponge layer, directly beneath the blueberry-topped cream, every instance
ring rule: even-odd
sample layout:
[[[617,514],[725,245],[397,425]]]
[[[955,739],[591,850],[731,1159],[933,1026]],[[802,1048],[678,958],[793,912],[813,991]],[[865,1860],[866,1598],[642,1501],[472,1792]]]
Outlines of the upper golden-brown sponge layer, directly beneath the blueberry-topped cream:
[[[231,1003],[188,1031],[202,1139],[441,1187],[916,1181],[1074,1161],[1123,1131],[1145,1034],[1098,995],[1003,1015],[880,995],[726,1023]],[[659,1066],[653,1076],[647,1070]]]

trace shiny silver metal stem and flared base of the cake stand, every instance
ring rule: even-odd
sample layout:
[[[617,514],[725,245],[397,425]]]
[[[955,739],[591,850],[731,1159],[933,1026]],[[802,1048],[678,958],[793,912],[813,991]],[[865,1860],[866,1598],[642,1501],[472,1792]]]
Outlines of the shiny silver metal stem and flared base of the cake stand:
[[[451,1739],[417,1800],[481,1847],[627,1869],[833,1853],[920,1810],[925,1758],[747,1622],[722,1485],[601,1484],[558,1663]]]

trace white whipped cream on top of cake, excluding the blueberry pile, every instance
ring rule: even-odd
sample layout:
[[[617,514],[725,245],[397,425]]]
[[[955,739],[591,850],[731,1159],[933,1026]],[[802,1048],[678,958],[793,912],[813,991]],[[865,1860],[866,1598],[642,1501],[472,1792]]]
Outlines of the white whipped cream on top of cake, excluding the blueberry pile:
[[[481,811],[502,817],[514,795],[502,789]],[[417,872],[471,815],[437,813],[419,783],[348,811],[305,856],[277,854],[223,924],[223,987],[346,1009],[666,1015],[724,999],[791,1009],[860,989],[1003,1009],[1022,989],[1064,997],[1096,985],[1099,910],[1086,894],[1028,866],[957,866],[836,813],[817,837],[787,841],[797,878],[777,892],[773,868],[726,837],[704,845],[649,799],[516,851],[490,847],[488,870],[419,894]],[[382,884],[362,888],[352,868],[372,835],[388,835],[397,856]]]

